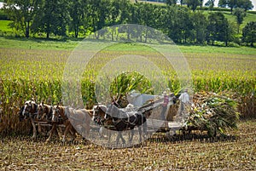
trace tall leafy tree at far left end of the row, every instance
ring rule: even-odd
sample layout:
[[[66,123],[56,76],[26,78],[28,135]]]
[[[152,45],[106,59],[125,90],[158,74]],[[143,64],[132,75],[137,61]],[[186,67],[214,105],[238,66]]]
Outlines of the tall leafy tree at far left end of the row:
[[[4,10],[9,15],[9,19],[13,20],[11,27],[17,31],[23,31],[25,37],[30,36],[30,26],[35,12],[38,9],[41,0],[7,0]]]

